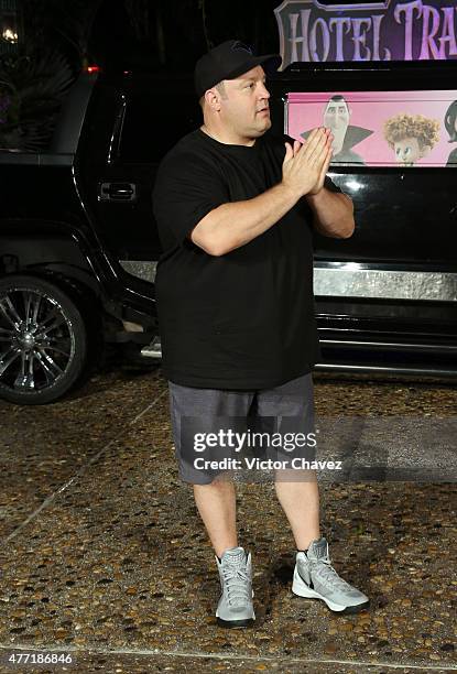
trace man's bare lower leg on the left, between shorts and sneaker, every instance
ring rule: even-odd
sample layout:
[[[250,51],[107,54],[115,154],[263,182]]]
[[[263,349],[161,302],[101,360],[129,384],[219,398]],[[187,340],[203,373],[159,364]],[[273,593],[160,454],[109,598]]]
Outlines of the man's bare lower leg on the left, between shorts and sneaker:
[[[238,545],[235,485],[218,479],[210,485],[194,485],[194,497],[215,553],[220,558],[226,550]]]

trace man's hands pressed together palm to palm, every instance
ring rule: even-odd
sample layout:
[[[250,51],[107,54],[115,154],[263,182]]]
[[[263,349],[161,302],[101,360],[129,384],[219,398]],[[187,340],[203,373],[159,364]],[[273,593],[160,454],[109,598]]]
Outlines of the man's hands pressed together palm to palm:
[[[305,143],[285,143],[283,184],[298,197],[315,195],[323,188],[331,161],[330,131],[313,129]]]

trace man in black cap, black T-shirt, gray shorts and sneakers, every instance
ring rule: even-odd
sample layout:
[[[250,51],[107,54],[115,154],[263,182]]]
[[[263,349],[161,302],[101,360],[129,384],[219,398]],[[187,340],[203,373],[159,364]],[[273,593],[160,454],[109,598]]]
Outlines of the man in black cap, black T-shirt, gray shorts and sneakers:
[[[195,86],[204,124],[165,156],[154,188],[175,450],[216,553],[224,627],[254,619],[251,554],[238,546],[233,481],[189,461],[187,422],[204,417],[213,428],[221,417],[285,416],[296,420],[296,431],[309,431],[318,358],[312,226],[337,238],[355,227],[350,198],[326,178],[329,132],[315,129],[303,146],[266,135],[265,70],[280,64],[232,40],[203,56]],[[303,471],[300,480],[292,472],[276,479],[275,490],[297,547],[293,591],[336,611],[367,607],[330,565],[315,475]]]

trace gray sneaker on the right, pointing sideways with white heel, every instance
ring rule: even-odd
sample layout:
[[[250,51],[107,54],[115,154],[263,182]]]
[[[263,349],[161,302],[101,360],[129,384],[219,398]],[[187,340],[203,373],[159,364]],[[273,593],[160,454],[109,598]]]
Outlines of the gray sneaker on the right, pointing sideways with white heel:
[[[357,613],[370,604],[363,593],[338,576],[325,539],[313,541],[307,553],[296,554],[292,591],[298,597],[322,599],[338,613]]]

